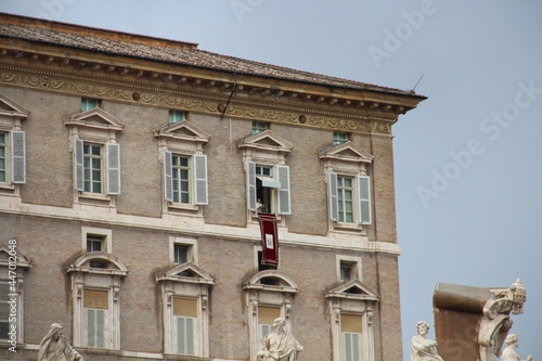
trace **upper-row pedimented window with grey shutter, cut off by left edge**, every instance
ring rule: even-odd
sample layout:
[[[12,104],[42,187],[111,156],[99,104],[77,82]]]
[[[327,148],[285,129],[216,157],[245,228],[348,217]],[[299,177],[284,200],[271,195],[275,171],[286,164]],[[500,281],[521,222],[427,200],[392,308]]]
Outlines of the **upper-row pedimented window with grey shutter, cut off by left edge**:
[[[26,183],[26,133],[22,121],[30,112],[12,99],[0,93],[0,132],[5,134],[5,180],[0,181],[0,192],[20,196],[21,185]]]

